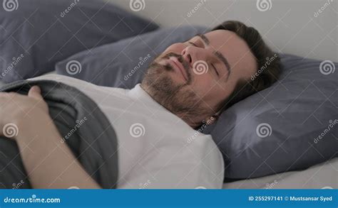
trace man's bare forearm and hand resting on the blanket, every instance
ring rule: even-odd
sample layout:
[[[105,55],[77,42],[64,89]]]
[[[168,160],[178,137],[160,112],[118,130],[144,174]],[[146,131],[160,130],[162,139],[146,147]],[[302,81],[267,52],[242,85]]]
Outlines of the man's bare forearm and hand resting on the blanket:
[[[14,139],[34,188],[101,188],[60,142],[39,87],[32,87],[28,96],[0,93],[0,128],[9,123],[18,126]]]

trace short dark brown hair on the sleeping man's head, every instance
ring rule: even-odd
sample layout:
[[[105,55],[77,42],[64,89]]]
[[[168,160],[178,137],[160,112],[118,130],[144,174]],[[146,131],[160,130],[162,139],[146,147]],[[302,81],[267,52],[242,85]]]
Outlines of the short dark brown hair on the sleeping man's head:
[[[212,31],[215,30],[226,30],[236,33],[240,38],[245,40],[257,60],[257,72],[254,79],[251,77],[250,80],[239,80],[237,82],[234,92],[225,101],[221,102],[217,108],[220,111],[224,111],[242,99],[255,94],[255,92],[270,87],[280,76],[281,66],[280,58],[265,44],[262,36],[255,28],[248,27],[240,21],[225,21],[212,29]],[[268,62],[269,65],[267,65],[267,60],[270,59],[272,59],[272,62]]]

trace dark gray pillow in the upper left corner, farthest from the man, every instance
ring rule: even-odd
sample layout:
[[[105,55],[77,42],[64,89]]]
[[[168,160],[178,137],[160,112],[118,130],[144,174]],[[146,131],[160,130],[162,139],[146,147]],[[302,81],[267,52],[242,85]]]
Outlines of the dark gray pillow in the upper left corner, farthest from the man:
[[[158,26],[105,1],[6,1],[0,8],[0,80],[54,70],[74,53]]]

